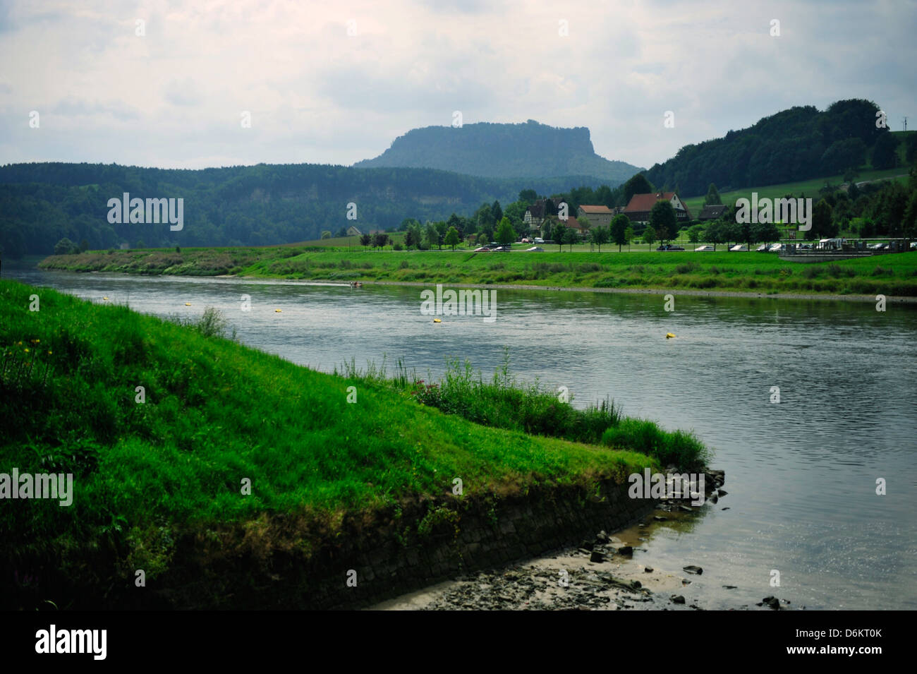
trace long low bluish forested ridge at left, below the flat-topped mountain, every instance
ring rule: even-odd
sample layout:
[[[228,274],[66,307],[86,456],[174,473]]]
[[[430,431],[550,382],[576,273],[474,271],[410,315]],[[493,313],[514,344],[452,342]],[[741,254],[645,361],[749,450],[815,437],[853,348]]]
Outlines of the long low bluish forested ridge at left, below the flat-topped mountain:
[[[599,184],[583,175],[498,180],[431,169],[354,169],[324,164],[259,164],[221,169],[150,169],[117,164],[0,166],[0,253],[50,254],[61,238],[91,249],[261,246],[315,239],[324,229],[363,232],[470,215],[482,203],[515,201],[520,190],[558,193]],[[108,200],[182,198],[183,227],[110,224]],[[357,219],[348,220],[348,204]]]

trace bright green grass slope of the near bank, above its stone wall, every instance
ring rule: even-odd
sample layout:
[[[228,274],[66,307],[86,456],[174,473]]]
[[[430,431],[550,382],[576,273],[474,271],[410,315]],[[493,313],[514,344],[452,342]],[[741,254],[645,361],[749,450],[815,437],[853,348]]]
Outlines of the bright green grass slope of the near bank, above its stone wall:
[[[514,413],[493,404],[500,414],[481,418],[480,404],[452,392],[444,414],[436,406],[448,405],[417,400],[414,382],[328,375],[218,337],[214,316],[181,326],[7,281],[0,315],[0,472],[74,475],[69,507],[2,504],[6,607],[116,602],[135,569],[168,588],[191,558],[217,576],[229,558],[308,559],[373,514],[452,498],[456,477],[473,500],[590,489],[660,466],[614,448],[631,440],[607,436],[623,425],[612,411],[548,405],[508,381],[463,386],[512,401]],[[524,432],[539,429],[557,437]]]

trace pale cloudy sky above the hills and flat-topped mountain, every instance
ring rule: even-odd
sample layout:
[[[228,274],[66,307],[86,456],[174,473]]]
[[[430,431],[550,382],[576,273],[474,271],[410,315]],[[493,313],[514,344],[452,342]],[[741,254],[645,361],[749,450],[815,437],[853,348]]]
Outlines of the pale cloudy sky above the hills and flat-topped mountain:
[[[0,0],[0,164],[349,165],[460,112],[648,168],[793,105],[917,128],[914,36],[917,0]]]

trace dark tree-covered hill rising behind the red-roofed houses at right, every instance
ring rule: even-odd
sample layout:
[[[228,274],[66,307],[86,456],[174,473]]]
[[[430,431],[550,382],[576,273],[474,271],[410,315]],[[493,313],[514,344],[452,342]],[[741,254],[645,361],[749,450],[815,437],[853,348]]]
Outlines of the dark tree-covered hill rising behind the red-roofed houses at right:
[[[711,182],[728,192],[838,175],[867,158],[874,169],[891,169],[898,141],[888,127],[877,127],[878,111],[861,99],[837,101],[824,111],[792,107],[724,138],[686,145],[646,177],[691,197],[706,193]]]

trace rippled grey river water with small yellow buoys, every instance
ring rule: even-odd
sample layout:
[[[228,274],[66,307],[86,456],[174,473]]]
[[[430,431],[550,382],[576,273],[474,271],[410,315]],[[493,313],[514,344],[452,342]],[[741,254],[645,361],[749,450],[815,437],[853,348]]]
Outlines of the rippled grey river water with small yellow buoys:
[[[713,447],[728,496],[657,523],[635,554],[701,566],[703,608],[772,594],[796,608],[917,609],[913,305],[677,295],[666,312],[654,294],[498,289],[496,321],[435,324],[416,287],[3,271],[154,315],[212,305],[244,343],[318,370],[402,359],[436,378],[457,356],[489,376],[509,348],[521,379],[566,386],[578,405],[611,396]]]

